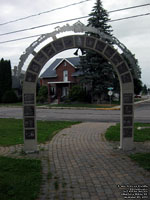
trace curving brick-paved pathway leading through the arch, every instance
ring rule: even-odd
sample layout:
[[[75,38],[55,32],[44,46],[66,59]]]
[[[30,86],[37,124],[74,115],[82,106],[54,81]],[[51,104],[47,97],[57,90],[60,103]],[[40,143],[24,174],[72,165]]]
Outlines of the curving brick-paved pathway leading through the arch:
[[[40,145],[43,182],[38,200],[122,200],[129,186],[130,191],[150,186],[150,173],[105,141],[103,133],[110,125],[81,123]]]

